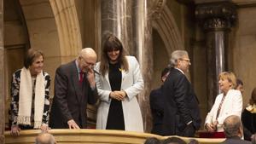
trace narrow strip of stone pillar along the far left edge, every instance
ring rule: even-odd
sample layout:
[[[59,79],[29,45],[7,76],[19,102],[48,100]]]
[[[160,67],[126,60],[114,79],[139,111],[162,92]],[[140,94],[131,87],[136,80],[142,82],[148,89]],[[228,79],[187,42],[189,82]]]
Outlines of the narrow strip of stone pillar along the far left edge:
[[[4,143],[4,49],[3,49],[3,0],[0,0],[0,143]]]

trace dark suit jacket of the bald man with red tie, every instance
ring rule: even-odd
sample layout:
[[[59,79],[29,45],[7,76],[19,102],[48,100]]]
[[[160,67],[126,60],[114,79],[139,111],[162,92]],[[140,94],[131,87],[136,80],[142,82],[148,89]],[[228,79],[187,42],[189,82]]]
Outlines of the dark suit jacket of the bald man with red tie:
[[[84,73],[83,84],[79,84],[79,72],[75,60],[57,68],[55,72],[55,96],[49,116],[49,126],[53,129],[68,128],[67,121],[73,119],[80,128],[86,128],[86,107],[95,104],[96,89]]]

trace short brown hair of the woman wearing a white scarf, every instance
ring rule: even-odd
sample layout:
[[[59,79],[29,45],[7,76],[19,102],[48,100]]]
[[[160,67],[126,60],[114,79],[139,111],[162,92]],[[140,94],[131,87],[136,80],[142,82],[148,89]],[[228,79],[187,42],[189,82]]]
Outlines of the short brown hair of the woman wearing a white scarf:
[[[24,66],[26,68],[32,66],[33,61],[36,60],[39,56],[43,56],[44,59],[44,54],[42,51],[38,49],[28,49],[24,60]]]

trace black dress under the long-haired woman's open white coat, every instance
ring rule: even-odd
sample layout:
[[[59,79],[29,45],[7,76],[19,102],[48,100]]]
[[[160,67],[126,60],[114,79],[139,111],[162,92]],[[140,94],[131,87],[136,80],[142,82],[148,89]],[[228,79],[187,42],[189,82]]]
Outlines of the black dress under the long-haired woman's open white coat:
[[[120,90],[122,83],[122,72],[120,64],[109,64],[108,73],[109,83],[112,91]],[[125,130],[125,120],[122,107],[122,101],[111,100],[108,110],[107,130]]]

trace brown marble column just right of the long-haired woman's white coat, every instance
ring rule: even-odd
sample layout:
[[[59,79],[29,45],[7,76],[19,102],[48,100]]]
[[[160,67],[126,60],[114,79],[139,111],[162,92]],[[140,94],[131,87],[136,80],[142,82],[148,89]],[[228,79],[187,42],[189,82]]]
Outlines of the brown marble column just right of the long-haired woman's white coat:
[[[144,89],[138,96],[143,114],[144,130],[150,132],[152,127],[149,94],[153,77],[153,41],[152,20],[160,18],[165,0],[133,1],[133,37],[137,60],[143,73]]]

